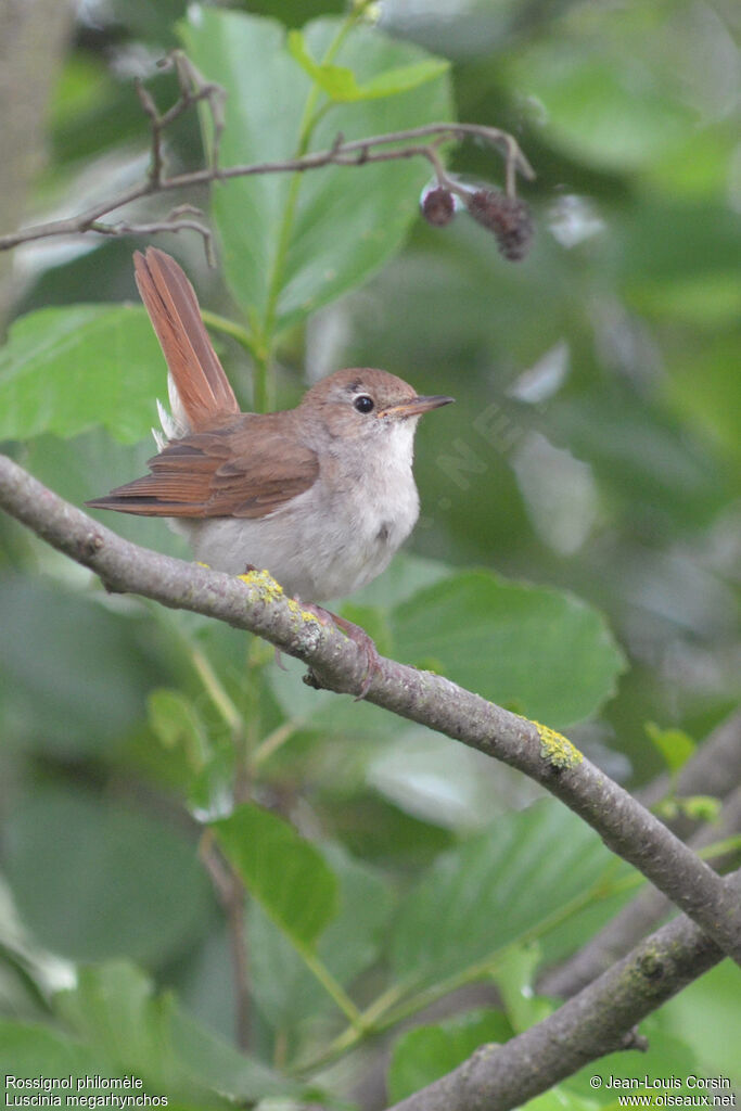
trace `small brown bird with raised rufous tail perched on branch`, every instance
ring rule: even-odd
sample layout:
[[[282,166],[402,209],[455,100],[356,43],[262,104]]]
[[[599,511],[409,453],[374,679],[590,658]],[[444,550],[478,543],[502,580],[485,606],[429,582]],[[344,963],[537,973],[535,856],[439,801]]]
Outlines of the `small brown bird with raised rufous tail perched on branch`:
[[[168,366],[170,412],[158,402],[162,431],[149,473],[86,504],[170,519],[214,570],[267,569],[287,594],[362,643],[367,690],[372,641],[319,603],[369,583],[411,533],[417,424],[453,399],[363,367],[321,379],[294,409],[241,412],[182,268],[158,248],[133,258]]]

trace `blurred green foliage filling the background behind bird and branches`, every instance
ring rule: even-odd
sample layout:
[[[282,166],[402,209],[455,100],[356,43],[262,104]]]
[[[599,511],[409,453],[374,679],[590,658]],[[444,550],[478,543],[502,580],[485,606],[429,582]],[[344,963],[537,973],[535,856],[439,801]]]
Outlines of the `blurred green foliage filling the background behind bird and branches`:
[[[341,366],[380,366],[455,396],[418,437],[422,518],[408,554],[344,612],[382,651],[568,727],[637,787],[663,767],[648,723],[700,742],[739,698],[739,10],[732,0],[380,9],[378,29],[354,28],[339,57],[359,80],[425,51],[450,67],[398,97],[334,106],[308,138],[319,149],[338,130],[354,138],[455,117],[511,131],[538,174],[520,190],[537,228],[523,262],[502,259],[464,213],[444,229],[419,219],[429,167],[412,161],[307,174],[282,269],[271,252],[287,177],[154,198],[122,218],[161,218],[173,201],[210,209],[218,272],[196,236],[157,243],[204,307],[249,329],[246,344],[218,320],[212,332],[244,407],[256,368],[276,407]],[[171,102],[174,81],[156,62],[176,46],[229,91],[224,161],[290,157],[310,81],[280,24],[343,10],[260,0],[187,16],[181,0],[81,2],[27,220],[78,211],[146,172],[132,79]],[[333,29],[306,29],[314,58]],[[202,164],[201,122],[203,132],[192,113],[172,129],[173,168]],[[450,164],[501,181],[495,152],[475,143],[452,148]],[[78,237],[14,253],[12,316],[23,319],[0,356],[0,436],[77,504],[151,454],[146,430],[164,387],[133,286],[131,251],[143,246]],[[273,303],[270,276],[280,279]],[[184,554],[160,523],[104,523]],[[0,544],[6,1072],[41,1060],[51,1074],[126,1069],[183,1107],[218,1107],[221,1095],[290,1094],[268,1064],[311,1060],[307,1075],[324,1092],[378,1105],[370,1082],[358,1094],[362,1054],[344,1072],[317,1071],[329,1063],[319,1048],[341,1028],[307,953],[360,1000],[391,991],[380,1013],[392,1025],[404,1005],[415,1013],[489,978],[503,903],[500,957],[524,933],[552,962],[625,898],[630,881],[591,834],[548,803],[529,807],[535,790],[508,770],[308,691],[300,668],[279,671],[233,630],[106,597],[6,520]],[[277,870],[294,851],[302,861],[307,888],[294,878],[288,904],[259,860],[233,860],[253,895],[249,1068],[231,1045],[228,929],[196,855],[199,823],[229,813],[237,765],[254,800],[320,847],[303,861],[289,831],[274,857],[264,850]],[[272,844],[261,813],[258,841]],[[229,854],[232,834],[211,829]],[[525,850],[545,843],[572,848],[539,869]],[[605,875],[611,894],[598,900]],[[301,914],[318,890],[312,932]],[[461,910],[467,890],[480,921]],[[548,920],[564,901],[564,922]],[[440,923],[448,904],[460,917]],[[497,968],[512,999],[525,973]],[[721,1031],[738,987],[727,962],[653,1019],[648,1071],[682,1073],[691,1059],[730,1072]],[[459,1047],[445,1068],[534,1018],[510,1007],[445,1028],[444,1043]],[[424,1029],[433,1033],[397,1043],[390,1098],[440,1067],[441,1028]],[[587,1094],[577,1081],[564,1098],[582,1105]]]

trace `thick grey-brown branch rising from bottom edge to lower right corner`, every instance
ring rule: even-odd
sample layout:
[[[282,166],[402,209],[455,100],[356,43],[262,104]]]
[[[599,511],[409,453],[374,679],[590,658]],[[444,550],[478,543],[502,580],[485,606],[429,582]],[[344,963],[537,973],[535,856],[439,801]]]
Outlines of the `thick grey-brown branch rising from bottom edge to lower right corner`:
[[[725,881],[738,900],[741,873]],[[682,914],[641,942],[542,1022],[503,1045],[482,1045],[463,1064],[392,1111],[508,1111],[605,1053],[643,1049],[641,1019],[722,959]]]

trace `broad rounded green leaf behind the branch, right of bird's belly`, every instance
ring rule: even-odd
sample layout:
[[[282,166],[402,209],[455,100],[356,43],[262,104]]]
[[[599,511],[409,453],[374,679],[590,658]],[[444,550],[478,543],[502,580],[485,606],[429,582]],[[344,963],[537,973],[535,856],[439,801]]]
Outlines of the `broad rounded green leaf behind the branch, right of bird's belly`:
[[[563,728],[594,713],[624,668],[604,618],[572,594],[490,571],[419,591],[391,614],[399,659]]]

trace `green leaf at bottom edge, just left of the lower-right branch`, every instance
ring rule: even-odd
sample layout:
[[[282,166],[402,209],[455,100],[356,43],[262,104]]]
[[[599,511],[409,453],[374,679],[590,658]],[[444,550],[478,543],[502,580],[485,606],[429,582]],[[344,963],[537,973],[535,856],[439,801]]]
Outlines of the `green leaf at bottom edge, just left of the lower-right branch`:
[[[480,1045],[504,1042],[512,1028],[501,1011],[469,1011],[435,1025],[418,1027],[402,1034],[389,1065],[389,1102],[419,1092],[462,1064]]]

